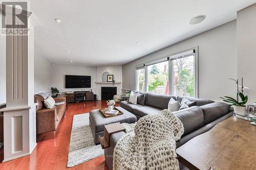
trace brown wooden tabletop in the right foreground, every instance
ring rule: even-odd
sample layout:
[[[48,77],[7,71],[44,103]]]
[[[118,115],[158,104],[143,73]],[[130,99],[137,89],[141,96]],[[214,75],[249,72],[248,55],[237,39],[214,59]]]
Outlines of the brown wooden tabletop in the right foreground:
[[[231,116],[176,149],[189,169],[256,169],[256,126]]]

